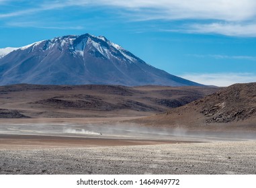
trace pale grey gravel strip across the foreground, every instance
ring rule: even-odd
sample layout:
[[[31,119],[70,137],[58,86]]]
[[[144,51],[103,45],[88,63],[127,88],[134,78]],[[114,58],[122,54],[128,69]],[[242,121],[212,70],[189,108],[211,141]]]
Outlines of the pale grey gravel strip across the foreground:
[[[0,174],[256,174],[256,141],[1,149]]]

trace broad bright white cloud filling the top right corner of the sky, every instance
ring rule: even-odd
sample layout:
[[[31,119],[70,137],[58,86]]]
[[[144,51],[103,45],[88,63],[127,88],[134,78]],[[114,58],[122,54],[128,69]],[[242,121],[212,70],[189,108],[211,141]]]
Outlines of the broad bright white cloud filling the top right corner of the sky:
[[[154,9],[161,19],[220,19],[225,21],[241,21],[256,15],[254,0],[130,0],[130,1],[97,1],[105,5],[119,6],[136,11]],[[140,15],[142,15],[140,13]],[[155,15],[146,14],[147,19],[155,19]]]

